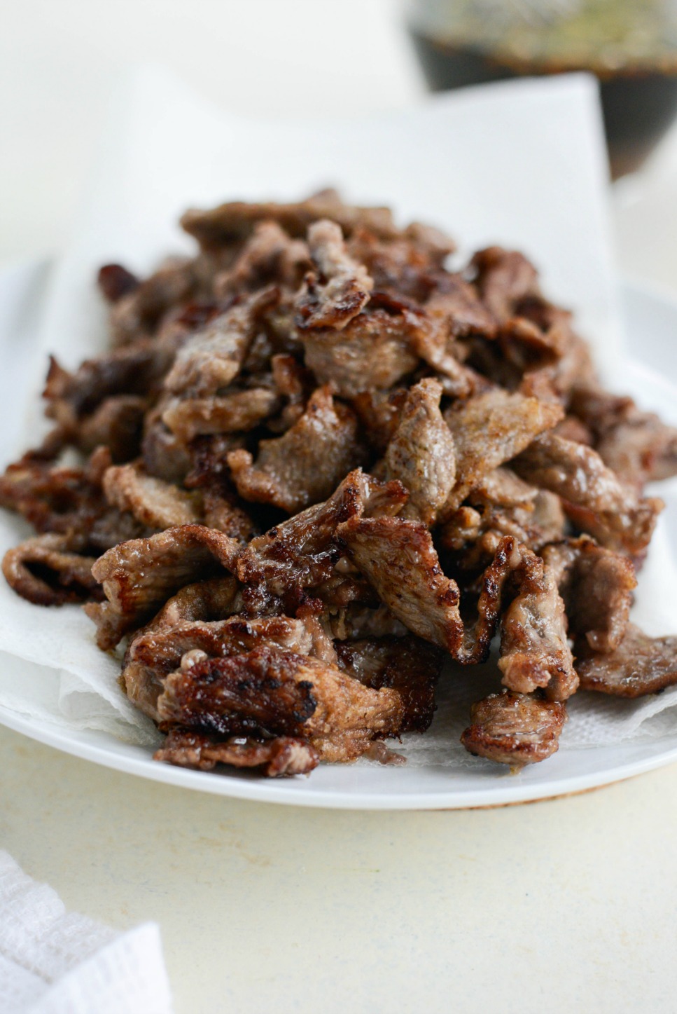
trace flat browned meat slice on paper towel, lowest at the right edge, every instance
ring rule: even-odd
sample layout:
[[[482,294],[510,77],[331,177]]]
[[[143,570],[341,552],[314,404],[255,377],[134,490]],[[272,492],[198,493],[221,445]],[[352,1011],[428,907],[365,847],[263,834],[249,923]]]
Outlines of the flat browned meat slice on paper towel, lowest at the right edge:
[[[583,654],[577,663],[582,690],[637,698],[677,683],[677,637],[648,637],[628,624],[613,651]]]

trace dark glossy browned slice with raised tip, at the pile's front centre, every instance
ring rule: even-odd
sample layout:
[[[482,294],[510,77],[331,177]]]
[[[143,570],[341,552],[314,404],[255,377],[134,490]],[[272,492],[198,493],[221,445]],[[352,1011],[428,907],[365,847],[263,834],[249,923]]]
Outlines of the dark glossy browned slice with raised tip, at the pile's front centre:
[[[252,538],[238,561],[237,576],[258,588],[264,602],[267,595],[283,597],[321,585],[341,556],[336,526],[364,513],[396,513],[406,499],[400,483],[380,483],[361,470],[352,472],[325,503]]]

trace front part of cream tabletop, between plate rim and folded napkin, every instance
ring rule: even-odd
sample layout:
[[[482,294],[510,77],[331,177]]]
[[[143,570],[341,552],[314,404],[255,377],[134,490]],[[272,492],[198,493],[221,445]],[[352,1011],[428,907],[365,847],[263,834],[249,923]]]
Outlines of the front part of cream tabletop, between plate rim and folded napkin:
[[[673,1012],[677,767],[566,799],[239,802],[0,729],[0,844],[66,904],[162,930],[179,1014]]]

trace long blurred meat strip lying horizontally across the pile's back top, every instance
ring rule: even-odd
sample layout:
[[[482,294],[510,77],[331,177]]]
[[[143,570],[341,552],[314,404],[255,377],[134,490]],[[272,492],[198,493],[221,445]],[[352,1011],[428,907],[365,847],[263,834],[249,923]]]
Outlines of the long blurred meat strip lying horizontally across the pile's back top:
[[[277,222],[294,237],[305,237],[312,222],[330,218],[345,235],[366,228],[386,238],[397,235],[389,208],[356,208],[342,203],[335,191],[323,191],[298,204],[245,204],[233,201],[210,211],[186,211],[181,225],[205,249],[246,239],[261,221]]]

